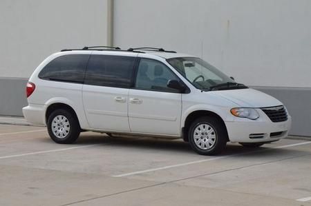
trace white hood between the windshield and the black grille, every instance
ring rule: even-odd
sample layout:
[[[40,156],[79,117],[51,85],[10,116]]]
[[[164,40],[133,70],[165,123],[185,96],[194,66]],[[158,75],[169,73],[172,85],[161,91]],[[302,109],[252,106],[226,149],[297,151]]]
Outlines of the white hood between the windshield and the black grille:
[[[241,107],[273,107],[283,105],[281,101],[275,99],[273,96],[260,92],[254,89],[242,90],[218,90],[215,94],[221,96]]]

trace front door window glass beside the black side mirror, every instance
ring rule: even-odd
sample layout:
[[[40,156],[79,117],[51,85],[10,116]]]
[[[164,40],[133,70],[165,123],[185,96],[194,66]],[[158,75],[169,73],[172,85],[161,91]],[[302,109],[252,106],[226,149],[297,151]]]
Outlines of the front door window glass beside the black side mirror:
[[[135,88],[159,92],[178,92],[167,87],[169,80],[179,79],[164,63],[152,59],[140,60]]]

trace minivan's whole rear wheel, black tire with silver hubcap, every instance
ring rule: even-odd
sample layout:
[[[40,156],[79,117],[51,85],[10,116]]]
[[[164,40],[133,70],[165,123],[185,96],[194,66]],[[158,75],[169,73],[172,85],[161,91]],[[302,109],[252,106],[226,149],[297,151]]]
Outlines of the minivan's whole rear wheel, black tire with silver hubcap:
[[[48,134],[59,144],[74,143],[81,132],[79,121],[68,110],[58,109],[48,116]]]

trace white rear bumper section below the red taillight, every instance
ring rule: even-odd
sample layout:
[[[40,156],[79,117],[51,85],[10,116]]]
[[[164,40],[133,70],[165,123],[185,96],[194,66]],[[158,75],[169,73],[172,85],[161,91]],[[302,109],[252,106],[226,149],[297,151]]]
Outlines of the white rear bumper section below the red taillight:
[[[46,125],[46,105],[29,104],[23,107],[23,116],[28,123]]]

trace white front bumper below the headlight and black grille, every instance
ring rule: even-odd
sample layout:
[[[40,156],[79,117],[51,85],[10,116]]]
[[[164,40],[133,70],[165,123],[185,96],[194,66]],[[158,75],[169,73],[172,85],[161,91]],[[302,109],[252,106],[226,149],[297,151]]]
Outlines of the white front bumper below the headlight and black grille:
[[[288,131],[292,125],[292,118],[288,116],[288,121],[274,123],[272,121],[234,121],[226,122],[229,141],[233,143],[259,143],[278,141],[288,136]],[[281,133],[274,133],[281,132]]]

